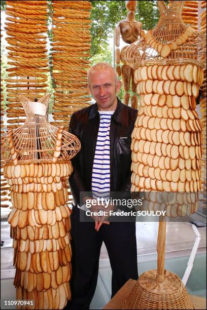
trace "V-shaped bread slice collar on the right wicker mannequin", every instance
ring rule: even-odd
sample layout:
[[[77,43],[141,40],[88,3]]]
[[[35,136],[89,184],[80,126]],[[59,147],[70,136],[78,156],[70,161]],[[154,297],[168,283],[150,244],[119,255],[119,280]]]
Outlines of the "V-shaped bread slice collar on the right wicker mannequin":
[[[143,34],[143,38],[144,38],[145,42],[151,48],[156,50],[161,55],[162,58],[165,58],[165,57],[169,56],[171,51],[177,50],[180,45],[187,42],[188,38],[191,37],[195,31],[196,31],[195,29],[193,29],[192,27],[189,26],[174,41],[171,41],[168,44],[163,44],[163,43],[157,41],[153,36],[152,30],[149,30],[147,33],[143,32],[142,34]]]

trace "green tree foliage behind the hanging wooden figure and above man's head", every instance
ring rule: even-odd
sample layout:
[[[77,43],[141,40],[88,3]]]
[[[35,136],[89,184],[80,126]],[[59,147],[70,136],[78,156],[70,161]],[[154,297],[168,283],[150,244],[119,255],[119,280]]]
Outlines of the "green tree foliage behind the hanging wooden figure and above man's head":
[[[113,50],[110,50],[109,39],[113,37],[118,22],[126,18],[125,1],[91,0],[91,4],[91,56],[89,57],[91,65],[100,61],[112,64]],[[159,10],[155,2],[151,0],[137,1],[135,19],[143,23],[145,30],[155,27],[159,19]],[[129,93],[131,96],[132,93]],[[123,88],[118,96],[123,101]]]

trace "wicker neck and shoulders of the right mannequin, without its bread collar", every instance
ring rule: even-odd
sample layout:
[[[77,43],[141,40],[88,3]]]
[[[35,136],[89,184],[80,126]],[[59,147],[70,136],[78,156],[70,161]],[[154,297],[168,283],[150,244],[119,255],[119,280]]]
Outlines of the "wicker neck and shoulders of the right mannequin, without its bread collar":
[[[175,42],[188,26],[182,20],[182,9],[184,1],[174,1],[170,7],[163,1],[158,1],[160,10],[160,19],[157,26],[151,30],[155,41],[161,45]],[[201,61],[205,54],[206,45],[203,34],[194,32],[188,40],[178,46],[178,49],[172,50],[167,58],[161,57],[160,53],[152,48],[145,38],[128,46],[124,52],[126,63],[136,69],[145,64],[184,64],[193,63],[203,68]]]

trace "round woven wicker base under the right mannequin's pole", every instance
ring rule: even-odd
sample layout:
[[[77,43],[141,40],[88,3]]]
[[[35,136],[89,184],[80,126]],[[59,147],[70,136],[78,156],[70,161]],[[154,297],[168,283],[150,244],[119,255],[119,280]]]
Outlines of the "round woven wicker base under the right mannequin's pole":
[[[164,276],[159,282],[156,269],[142,274],[122,309],[194,309],[181,279],[167,270]]]

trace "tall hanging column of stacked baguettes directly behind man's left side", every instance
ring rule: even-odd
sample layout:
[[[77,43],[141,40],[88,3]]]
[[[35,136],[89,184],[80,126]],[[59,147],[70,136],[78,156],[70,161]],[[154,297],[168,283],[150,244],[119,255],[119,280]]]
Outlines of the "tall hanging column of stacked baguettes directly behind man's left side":
[[[71,114],[90,103],[86,69],[90,61],[89,1],[53,1],[51,62],[55,82],[52,125],[68,130]],[[75,52],[74,52],[75,50]]]

